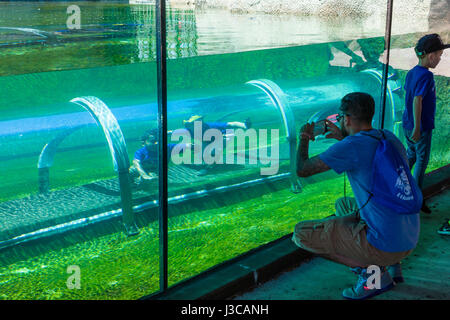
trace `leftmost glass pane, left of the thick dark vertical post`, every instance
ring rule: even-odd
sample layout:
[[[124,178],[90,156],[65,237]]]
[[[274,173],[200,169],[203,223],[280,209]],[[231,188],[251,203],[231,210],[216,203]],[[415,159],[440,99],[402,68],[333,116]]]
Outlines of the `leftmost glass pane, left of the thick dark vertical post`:
[[[2,2],[0,21],[0,298],[157,291],[158,208],[128,176],[156,123],[154,6]]]

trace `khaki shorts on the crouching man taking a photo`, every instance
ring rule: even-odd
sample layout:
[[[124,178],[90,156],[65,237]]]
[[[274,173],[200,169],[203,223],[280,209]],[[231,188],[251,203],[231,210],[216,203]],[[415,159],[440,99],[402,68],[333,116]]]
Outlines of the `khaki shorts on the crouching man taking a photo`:
[[[356,210],[354,198],[340,198],[335,216],[299,222],[292,240],[302,249],[352,268],[393,265],[412,252],[386,252],[372,246],[367,241],[367,226]]]

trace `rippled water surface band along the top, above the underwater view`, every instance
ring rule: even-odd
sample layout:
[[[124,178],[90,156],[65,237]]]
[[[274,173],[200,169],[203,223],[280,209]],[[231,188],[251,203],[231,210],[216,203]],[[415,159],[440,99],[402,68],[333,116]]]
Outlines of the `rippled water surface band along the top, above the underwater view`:
[[[78,2],[80,29],[68,29],[70,4],[0,3],[0,76],[155,60],[153,5]],[[383,24],[367,28],[365,19],[348,17],[242,15],[170,6],[166,16],[169,59],[384,34]],[[13,28],[31,28],[37,33]]]

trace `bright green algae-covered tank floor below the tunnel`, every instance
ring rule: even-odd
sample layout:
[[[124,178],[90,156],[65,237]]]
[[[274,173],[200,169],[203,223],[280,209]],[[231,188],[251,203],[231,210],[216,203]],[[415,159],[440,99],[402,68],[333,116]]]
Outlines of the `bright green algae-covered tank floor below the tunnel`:
[[[343,195],[338,191],[342,183],[337,178],[308,185],[298,195],[274,191],[170,218],[169,285],[290,233],[300,220],[332,214],[333,199]],[[252,191],[246,193],[250,196]],[[229,203],[230,196],[210,201]],[[58,248],[65,238],[80,236],[63,236],[44,246],[54,248],[51,252],[0,267],[0,298],[136,299],[158,290],[157,223],[145,226],[136,237],[114,233]],[[36,252],[39,249],[37,245]],[[70,265],[80,267],[81,289],[67,287]]]

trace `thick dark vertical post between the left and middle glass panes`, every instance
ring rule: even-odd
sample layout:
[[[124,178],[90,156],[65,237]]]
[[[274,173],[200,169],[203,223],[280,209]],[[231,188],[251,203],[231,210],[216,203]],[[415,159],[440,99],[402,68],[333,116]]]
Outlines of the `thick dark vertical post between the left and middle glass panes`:
[[[167,43],[166,3],[156,0],[156,65],[158,82],[159,129],[159,284],[165,291],[168,284],[168,154],[167,154]]]

